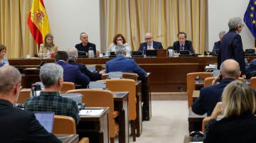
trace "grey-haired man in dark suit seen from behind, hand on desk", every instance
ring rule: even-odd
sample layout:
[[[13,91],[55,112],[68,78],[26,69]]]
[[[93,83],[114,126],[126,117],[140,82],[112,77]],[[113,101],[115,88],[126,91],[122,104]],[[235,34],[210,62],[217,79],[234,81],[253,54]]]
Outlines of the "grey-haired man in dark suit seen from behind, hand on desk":
[[[100,71],[100,74],[97,72],[91,72],[86,68],[85,64],[76,62],[77,59],[78,50],[75,47],[70,47],[68,49],[68,64],[77,65],[80,68],[80,71],[90,78],[90,81],[97,81],[102,79],[102,74],[105,73],[104,71]]]

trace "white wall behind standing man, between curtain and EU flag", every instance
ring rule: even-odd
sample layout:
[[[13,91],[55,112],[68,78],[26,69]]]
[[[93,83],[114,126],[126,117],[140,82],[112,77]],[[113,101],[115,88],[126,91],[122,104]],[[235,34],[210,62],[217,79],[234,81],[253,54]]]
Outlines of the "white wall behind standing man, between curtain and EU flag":
[[[221,30],[228,32],[228,20],[232,17],[243,19],[245,10],[250,0],[208,0],[208,48],[213,50],[215,41],[218,41],[218,33]],[[255,47],[255,39],[250,30],[245,27],[241,32],[243,49]],[[207,49],[207,47],[206,47]]]

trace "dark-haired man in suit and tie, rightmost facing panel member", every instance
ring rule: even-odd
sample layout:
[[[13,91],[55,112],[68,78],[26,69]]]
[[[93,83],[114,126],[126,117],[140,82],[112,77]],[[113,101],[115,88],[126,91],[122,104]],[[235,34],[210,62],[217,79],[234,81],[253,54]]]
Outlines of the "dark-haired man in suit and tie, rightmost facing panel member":
[[[173,49],[177,52],[183,51],[183,50],[189,50],[191,53],[193,53],[193,46],[192,42],[190,40],[186,40],[187,35],[184,32],[178,33],[178,41],[174,42]]]

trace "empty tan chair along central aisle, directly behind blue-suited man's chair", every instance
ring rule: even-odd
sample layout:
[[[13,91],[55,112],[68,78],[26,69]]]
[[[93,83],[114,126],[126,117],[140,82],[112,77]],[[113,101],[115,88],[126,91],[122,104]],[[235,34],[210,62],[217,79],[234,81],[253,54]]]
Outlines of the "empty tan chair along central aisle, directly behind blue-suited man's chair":
[[[106,82],[106,88],[110,91],[129,91],[128,110],[129,120],[131,120],[132,138],[136,141],[136,82],[133,79],[105,79],[100,80]]]

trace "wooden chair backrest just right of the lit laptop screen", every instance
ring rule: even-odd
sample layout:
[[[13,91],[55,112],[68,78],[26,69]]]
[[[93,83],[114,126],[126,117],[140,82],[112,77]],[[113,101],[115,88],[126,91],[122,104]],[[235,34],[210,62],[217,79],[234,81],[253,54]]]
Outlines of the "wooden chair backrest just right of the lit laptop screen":
[[[53,134],[76,134],[74,118],[66,115],[54,115]]]

